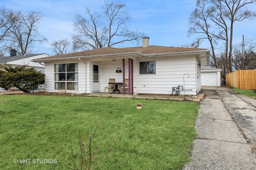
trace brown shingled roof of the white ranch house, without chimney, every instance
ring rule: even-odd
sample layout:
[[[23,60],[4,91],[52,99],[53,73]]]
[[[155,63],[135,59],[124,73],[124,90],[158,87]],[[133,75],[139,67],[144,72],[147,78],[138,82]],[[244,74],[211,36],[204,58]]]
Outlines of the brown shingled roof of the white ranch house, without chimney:
[[[50,57],[43,57],[40,59],[56,59],[56,58],[65,58],[65,57],[79,57],[79,56],[90,56],[90,55],[106,55],[106,54],[115,54],[115,53],[140,53],[142,55],[147,54],[157,54],[157,53],[171,53],[171,52],[182,52],[182,51],[198,51],[206,49],[195,49],[195,48],[181,48],[181,47],[164,47],[150,45],[148,47],[126,47],[126,48],[114,48],[114,47],[105,47],[101,49],[92,49],[87,51],[81,51],[76,53],[69,53],[63,55],[55,55]]]

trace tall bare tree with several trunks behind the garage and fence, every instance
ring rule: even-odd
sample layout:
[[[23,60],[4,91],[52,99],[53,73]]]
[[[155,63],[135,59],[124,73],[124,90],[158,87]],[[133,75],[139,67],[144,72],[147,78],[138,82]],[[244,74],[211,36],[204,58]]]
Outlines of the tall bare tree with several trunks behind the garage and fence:
[[[196,43],[208,39],[212,48],[214,64],[218,68],[214,46],[225,44],[225,67],[232,72],[232,48],[234,23],[256,17],[256,12],[248,10],[256,0],[197,0],[196,9],[190,15],[188,35],[198,34]]]

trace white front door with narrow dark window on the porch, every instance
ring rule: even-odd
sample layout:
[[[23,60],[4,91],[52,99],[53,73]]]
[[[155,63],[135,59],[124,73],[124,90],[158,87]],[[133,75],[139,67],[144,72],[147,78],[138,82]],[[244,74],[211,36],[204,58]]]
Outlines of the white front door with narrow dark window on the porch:
[[[99,64],[92,63],[92,93],[100,92],[100,69]]]

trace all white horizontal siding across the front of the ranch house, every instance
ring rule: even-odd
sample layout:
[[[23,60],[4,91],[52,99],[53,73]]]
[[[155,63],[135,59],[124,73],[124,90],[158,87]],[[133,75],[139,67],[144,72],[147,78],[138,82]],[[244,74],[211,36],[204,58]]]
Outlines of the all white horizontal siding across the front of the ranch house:
[[[139,63],[155,61],[155,74],[139,74]],[[94,61],[95,62],[95,61]],[[62,63],[62,62],[61,62]],[[78,93],[92,93],[92,61],[70,60],[69,63],[78,63]],[[125,78],[128,78],[128,59],[125,59],[125,66],[123,68],[123,60],[116,59],[114,61],[105,60],[97,61],[99,64],[99,82],[100,92],[104,92],[104,87],[108,86],[110,78],[114,78],[115,82],[123,81],[123,72]],[[54,64],[60,62],[46,62],[45,63],[45,90],[48,92],[58,92],[54,90]],[[196,57],[154,57],[141,58],[133,60],[134,68],[134,87],[138,94],[172,94],[172,87],[184,86],[185,90],[181,90],[180,94],[196,95],[198,92],[198,73],[196,70]],[[122,72],[116,72],[121,69]],[[189,78],[187,75],[189,74]],[[184,76],[184,79],[183,79]],[[184,81],[183,81],[184,80]],[[122,85],[118,85],[120,89]],[[67,92],[74,92],[68,91]]]

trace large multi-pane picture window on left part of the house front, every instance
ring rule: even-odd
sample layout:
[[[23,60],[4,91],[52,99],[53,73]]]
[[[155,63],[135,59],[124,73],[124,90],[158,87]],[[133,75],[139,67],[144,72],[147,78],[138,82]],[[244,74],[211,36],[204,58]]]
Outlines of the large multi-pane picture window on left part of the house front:
[[[55,90],[78,90],[78,63],[55,64]]]

